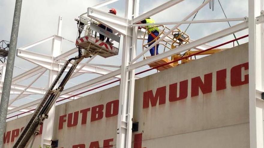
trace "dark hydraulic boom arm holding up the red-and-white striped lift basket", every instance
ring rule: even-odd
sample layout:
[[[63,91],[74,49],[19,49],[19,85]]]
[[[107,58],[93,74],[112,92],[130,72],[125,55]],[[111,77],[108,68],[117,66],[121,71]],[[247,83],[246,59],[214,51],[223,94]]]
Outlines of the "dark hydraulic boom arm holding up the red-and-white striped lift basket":
[[[91,57],[91,55],[82,55],[76,58],[71,58],[67,62],[65,62],[64,66],[61,68],[61,71],[57,75],[56,79],[53,81],[52,85],[49,87],[49,90],[46,92],[44,97],[41,100],[41,103],[36,108],[32,118],[29,120],[29,123],[23,129],[23,132],[20,134],[19,138],[17,139],[16,143],[14,144],[13,148],[24,148],[28,144],[28,142],[32,140],[32,144],[34,142],[35,136],[38,135],[40,126],[43,124],[44,120],[48,118],[48,113],[51,107],[56,102],[57,98],[63,91],[65,84],[70,79],[70,76],[73,74],[74,70],[76,69],[77,65],[84,59],[85,57]],[[67,66],[70,64],[71,61],[72,66],[70,67],[69,71],[63,78],[62,82],[58,86],[58,88],[54,89],[58,80],[61,78],[61,75],[64,73]],[[31,147],[32,147],[31,144]]]

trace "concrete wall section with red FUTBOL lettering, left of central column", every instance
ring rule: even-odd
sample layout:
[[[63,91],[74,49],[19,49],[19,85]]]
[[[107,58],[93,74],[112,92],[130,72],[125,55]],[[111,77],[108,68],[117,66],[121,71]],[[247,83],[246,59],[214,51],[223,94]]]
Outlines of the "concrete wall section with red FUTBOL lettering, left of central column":
[[[118,97],[116,86],[56,106],[53,139],[58,147],[115,145]]]

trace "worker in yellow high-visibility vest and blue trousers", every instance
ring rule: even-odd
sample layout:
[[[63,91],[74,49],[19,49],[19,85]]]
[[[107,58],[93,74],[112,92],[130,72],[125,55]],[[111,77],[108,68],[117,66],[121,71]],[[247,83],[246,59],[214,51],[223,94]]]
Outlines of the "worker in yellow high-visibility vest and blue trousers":
[[[154,19],[151,18],[147,18],[144,19],[143,21],[137,23],[137,24],[149,24],[149,23],[155,23]],[[160,30],[158,27],[153,27],[153,26],[143,26],[143,27],[138,27],[139,29],[144,28],[148,31],[148,43],[152,42],[157,36],[159,36],[160,34]],[[152,43],[149,44],[152,45],[155,41],[153,41]],[[156,48],[156,54],[155,54],[155,48]],[[159,54],[158,52],[158,48],[159,48],[159,44],[157,44],[156,46],[152,47],[149,52],[151,54],[151,56],[155,56],[157,54]]]

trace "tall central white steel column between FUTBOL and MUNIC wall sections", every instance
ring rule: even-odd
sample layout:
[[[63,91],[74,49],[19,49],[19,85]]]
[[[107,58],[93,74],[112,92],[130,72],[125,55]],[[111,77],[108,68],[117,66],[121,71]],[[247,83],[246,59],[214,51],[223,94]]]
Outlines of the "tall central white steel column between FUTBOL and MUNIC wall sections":
[[[133,12],[134,17],[138,16],[139,0],[126,0],[125,10],[125,17],[128,19],[132,19]],[[132,33],[133,36],[131,37],[126,35],[123,39],[119,115],[116,139],[117,148],[131,148],[132,141],[135,70],[126,71],[126,68],[131,60],[136,57],[137,28],[127,28],[127,32],[128,34]]]

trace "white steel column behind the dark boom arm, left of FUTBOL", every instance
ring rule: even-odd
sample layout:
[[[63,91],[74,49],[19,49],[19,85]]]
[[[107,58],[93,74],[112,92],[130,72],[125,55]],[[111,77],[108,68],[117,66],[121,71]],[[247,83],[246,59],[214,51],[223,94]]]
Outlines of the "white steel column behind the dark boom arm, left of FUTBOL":
[[[61,44],[62,43],[61,26],[62,26],[62,17],[59,16],[58,33],[57,33],[58,36],[54,36],[52,40],[52,59],[53,60],[55,60],[55,57],[58,57],[61,54],[61,45],[62,45]],[[58,74],[58,71],[54,71],[54,70],[49,71],[49,83],[48,83],[49,86],[55,80],[57,74]],[[46,119],[43,124],[41,147],[44,147],[45,145],[50,146],[51,144],[53,125],[54,125],[54,115],[55,115],[55,104],[52,106],[52,108],[49,111],[49,118]]]

